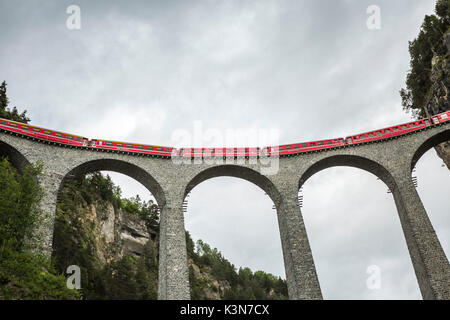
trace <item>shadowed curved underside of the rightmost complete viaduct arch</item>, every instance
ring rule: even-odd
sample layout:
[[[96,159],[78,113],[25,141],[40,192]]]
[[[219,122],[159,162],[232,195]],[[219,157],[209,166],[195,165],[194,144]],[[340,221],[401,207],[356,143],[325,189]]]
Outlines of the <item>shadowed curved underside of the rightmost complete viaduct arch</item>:
[[[334,155],[319,160],[307,168],[300,177],[300,187],[314,174],[330,167],[346,166],[368,171],[383,181],[390,190],[394,190],[396,183],[389,171],[378,162],[370,160],[362,156],[355,155]]]

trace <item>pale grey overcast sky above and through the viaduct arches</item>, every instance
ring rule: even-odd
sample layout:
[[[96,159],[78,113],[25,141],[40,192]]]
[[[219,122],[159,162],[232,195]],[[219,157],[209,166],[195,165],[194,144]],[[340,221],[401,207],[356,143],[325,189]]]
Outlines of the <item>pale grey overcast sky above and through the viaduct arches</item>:
[[[398,91],[408,41],[434,0],[0,0],[0,80],[32,123],[159,145],[264,146],[345,137],[410,120]],[[81,29],[66,25],[81,9]],[[370,5],[380,28],[370,29]],[[236,139],[188,137],[215,130]],[[252,131],[253,130],[253,131]],[[246,132],[260,132],[256,137]],[[448,169],[430,150],[419,194],[449,256]],[[124,194],[150,196],[113,175]],[[302,213],[324,298],[419,299],[391,194],[375,176],[330,168],[304,185]],[[186,229],[235,266],[285,277],[272,202],[215,178],[189,197]],[[366,281],[378,266],[381,288]]]

